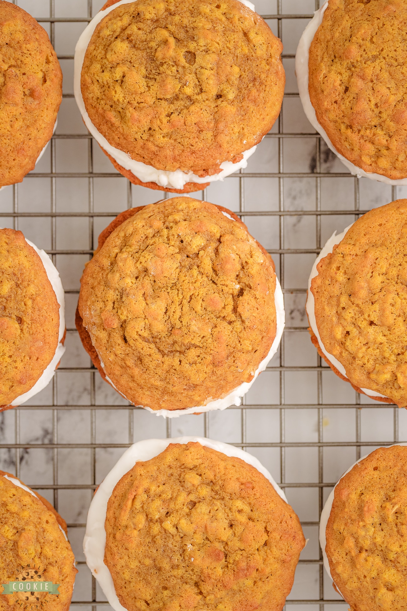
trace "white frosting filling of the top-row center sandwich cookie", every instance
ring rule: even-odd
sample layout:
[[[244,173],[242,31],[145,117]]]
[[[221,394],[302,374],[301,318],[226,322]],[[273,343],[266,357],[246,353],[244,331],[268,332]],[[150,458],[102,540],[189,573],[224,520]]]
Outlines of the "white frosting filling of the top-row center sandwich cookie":
[[[169,172],[167,170],[157,170],[155,167],[148,166],[141,161],[135,161],[130,155],[128,155],[128,153],[124,153],[124,151],[120,150],[120,148],[113,147],[96,129],[95,125],[93,125],[85,109],[85,103],[82,98],[81,91],[81,71],[86,49],[88,48],[88,44],[90,43],[90,39],[92,38],[92,34],[95,31],[98,23],[103,20],[103,18],[110,13],[111,10],[116,9],[122,4],[130,4],[131,2],[134,2],[134,0],[120,0],[120,2],[113,4],[108,9],[99,11],[92,21],[90,21],[88,26],[85,27],[76,43],[74,57],[74,95],[79,111],[81,112],[82,119],[84,120],[88,131],[90,131],[96,142],[98,142],[98,144],[101,145],[101,147],[104,148],[104,150],[109,153],[109,155],[113,157],[113,159],[115,159],[120,166],[124,167],[125,170],[130,170],[130,172],[132,172],[132,174],[139,178],[139,180],[141,180],[143,183],[153,182],[162,187],[183,189],[185,183],[212,183],[217,180],[223,180],[223,178],[233,174],[233,172],[236,172],[240,168],[247,167],[247,160],[251,155],[253,155],[254,151],[256,150],[256,146],[244,151],[243,159],[237,163],[223,161],[223,163],[220,164],[222,172],[213,176],[199,177],[193,174],[192,171],[182,172],[182,170],[175,170],[175,172]],[[254,11],[254,4],[248,0],[240,0],[240,2]]]

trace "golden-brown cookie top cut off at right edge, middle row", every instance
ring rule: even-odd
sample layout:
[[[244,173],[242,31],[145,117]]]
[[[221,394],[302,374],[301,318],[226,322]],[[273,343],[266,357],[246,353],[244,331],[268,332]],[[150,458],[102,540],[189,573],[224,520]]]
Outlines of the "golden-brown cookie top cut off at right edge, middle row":
[[[362,389],[407,406],[407,200],[370,210],[317,265],[315,319]]]

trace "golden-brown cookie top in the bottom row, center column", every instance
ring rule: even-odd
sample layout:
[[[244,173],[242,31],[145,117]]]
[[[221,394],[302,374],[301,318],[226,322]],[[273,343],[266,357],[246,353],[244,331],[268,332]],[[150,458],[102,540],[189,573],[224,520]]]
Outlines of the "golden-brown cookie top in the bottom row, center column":
[[[264,475],[191,442],[121,478],[105,529],[104,561],[129,611],[280,611],[305,543]]]

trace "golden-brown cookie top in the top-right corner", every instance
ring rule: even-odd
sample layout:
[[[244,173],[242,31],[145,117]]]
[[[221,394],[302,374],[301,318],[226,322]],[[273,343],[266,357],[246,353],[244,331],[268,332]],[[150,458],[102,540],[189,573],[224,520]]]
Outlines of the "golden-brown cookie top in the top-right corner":
[[[309,49],[309,95],[336,150],[366,172],[407,176],[407,5],[330,0]]]

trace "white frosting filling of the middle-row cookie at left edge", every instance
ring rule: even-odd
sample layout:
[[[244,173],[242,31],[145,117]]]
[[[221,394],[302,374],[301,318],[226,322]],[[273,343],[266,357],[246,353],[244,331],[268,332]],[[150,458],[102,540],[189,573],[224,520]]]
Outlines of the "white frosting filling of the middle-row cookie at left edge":
[[[13,408],[25,403],[25,401],[28,401],[31,399],[31,397],[34,397],[34,395],[40,392],[40,390],[43,390],[46,386],[48,386],[49,382],[54,377],[56,367],[61,360],[63,353],[65,352],[65,346],[63,346],[61,343],[63,335],[65,334],[65,293],[63,292],[62,282],[58,270],[45,251],[37,248],[37,246],[35,246],[35,244],[33,244],[30,240],[27,240],[27,238],[24,239],[26,240],[27,244],[34,248],[35,252],[37,252],[38,256],[40,257],[45,268],[46,275],[48,276],[48,280],[51,282],[51,286],[56,295],[57,302],[59,303],[59,334],[57,349],[48,367],[45,368],[41,377],[37,380],[37,382],[35,382],[34,386],[30,390],[27,390],[27,392],[24,392],[23,395],[15,398],[15,400],[10,403]]]

